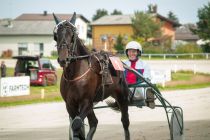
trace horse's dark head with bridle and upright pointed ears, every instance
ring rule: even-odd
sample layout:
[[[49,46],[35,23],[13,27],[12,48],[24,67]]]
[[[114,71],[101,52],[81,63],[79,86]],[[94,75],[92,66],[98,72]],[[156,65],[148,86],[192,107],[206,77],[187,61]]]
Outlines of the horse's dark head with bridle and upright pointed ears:
[[[66,67],[75,53],[77,31],[75,27],[76,13],[70,20],[61,21],[54,15],[56,27],[54,29],[54,40],[57,42],[58,63]]]

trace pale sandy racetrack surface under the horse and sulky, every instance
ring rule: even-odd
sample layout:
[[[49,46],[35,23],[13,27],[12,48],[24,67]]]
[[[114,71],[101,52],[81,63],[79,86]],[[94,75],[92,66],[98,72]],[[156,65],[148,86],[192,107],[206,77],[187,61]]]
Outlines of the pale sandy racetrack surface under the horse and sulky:
[[[210,139],[210,88],[165,91],[163,96],[183,108],[185,140]],[[95,113],[99,124],[94,140],[124,139],[120,113],[110,108]],[[170,139],[162,108],[129,107],[129,115],[132,140]],[[63,102],[0,108],[0,140],[67,140],[68,122]]]

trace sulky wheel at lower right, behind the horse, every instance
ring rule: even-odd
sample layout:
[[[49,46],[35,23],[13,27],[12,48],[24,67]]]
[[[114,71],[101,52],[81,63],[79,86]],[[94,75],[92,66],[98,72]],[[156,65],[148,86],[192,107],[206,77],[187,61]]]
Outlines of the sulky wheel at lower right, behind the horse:
[[[177,108],[174,109],[171,115],[170,134],[171,140],[184,140],[183,114]]]

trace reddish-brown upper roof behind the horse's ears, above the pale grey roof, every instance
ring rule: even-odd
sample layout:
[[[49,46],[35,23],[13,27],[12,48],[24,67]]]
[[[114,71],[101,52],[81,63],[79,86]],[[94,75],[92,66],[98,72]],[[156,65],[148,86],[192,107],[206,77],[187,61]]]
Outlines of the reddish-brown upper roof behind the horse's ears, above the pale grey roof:
[[[56,14],[56,13],[55,13]],[[57,17],[59,17],[62,20],[68,20],[71,19],[73,14],[56,14]],[[86,23],[89,23],[89,20],[86,19],[83,15],[77,14],[77,18],[83,19]],[[22,14],[15,18],[15,20],[30,20],[30,21],[54,21],[54,17],[52,14],[48,14],[47,12],[44,12],[43,14]]]

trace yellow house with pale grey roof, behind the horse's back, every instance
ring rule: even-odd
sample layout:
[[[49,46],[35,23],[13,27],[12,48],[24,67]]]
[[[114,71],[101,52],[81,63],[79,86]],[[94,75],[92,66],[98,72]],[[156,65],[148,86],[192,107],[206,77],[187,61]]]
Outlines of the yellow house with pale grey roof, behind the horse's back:
[[[111,50],[118,35],[132,35],[132,15],[107,15],[91,23],[93,47]]]

